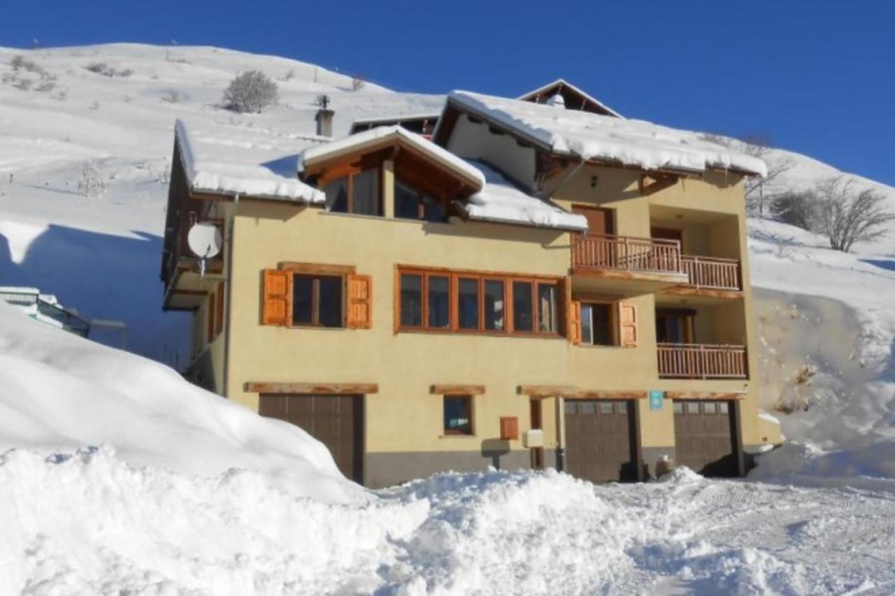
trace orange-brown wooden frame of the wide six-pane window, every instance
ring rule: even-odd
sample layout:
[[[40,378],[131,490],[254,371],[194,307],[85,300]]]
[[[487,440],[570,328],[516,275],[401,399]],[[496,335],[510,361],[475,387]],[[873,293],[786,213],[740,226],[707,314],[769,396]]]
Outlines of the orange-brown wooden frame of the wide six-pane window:
[[[422,277],[422,325],[409,326],[401,323],[401,279],[405,275]],[[432,328],[429,326],[429,277],[448,277],[448,292],[450,310],[447,328]],[[478,326],[477,328],[460,327],[459,311],[459,287],[460,279],[476,279],[478,282]],[[501,281],[504,289],[504,328],[485,328],[485,281]],[[448,268],[419,268],[413,266],[396,266],[395,275],[395,332],[425,332],[425,333],[454,333],[490,336],[528,336],[528,337],[562,337],[560,301],[562,300],[562,277],[550,276],[525,276],[512,273],[495,273],[493,271],[470,271],[465,269]],[[513,325],[513,284],[514,282],[529,283],[532,288],[532,330],[517,331]],[[554,330],[541,332],[538,330],[541,318],[541,307],[538,300],[539,285],[554,285]]]

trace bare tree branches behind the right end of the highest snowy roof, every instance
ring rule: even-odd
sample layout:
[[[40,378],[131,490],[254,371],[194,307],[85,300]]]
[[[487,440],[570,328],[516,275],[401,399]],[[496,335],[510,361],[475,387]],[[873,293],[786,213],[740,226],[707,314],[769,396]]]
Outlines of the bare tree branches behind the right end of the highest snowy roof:
[[[720,134],[704,134],[703,139],[761,159],[768,166],[768,175],[763,178],[746,178],[746,209],[750,215],[766,217],[771,211],[769,207],[773,200],[787,192],[780,176],[796,166],[792,158],[775,153],[773,140],[766,134],[747,133],[740,139]]]

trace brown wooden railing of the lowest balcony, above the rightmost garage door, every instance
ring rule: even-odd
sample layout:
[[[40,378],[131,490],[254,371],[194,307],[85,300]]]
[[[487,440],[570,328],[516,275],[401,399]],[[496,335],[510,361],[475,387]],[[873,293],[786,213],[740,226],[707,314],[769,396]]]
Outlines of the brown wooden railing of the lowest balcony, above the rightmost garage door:
[[[659,344],[662,379],[748,379],[745,345]]]

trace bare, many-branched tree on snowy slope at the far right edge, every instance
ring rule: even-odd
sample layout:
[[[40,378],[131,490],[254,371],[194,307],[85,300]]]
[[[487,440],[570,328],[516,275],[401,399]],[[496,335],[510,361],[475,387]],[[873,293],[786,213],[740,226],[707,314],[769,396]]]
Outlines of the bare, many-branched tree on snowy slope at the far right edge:
[[[814,231],[825,235],[830,246],[848,252],[857,242],[868,242],[886,233],[895,214],[883,208],[885,195],[860,188],[855,179],[836,176],[817,184],[817,219]]]

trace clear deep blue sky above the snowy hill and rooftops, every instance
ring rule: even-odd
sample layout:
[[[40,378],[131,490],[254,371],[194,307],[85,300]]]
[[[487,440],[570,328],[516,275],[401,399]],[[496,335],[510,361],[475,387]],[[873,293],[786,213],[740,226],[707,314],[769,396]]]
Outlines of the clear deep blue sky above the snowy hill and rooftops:
[[[392,89],[515,95],[564,77],[624,115],[769,135],[895,184],[895,2],[8,2],[0,45],[214,45]]]

